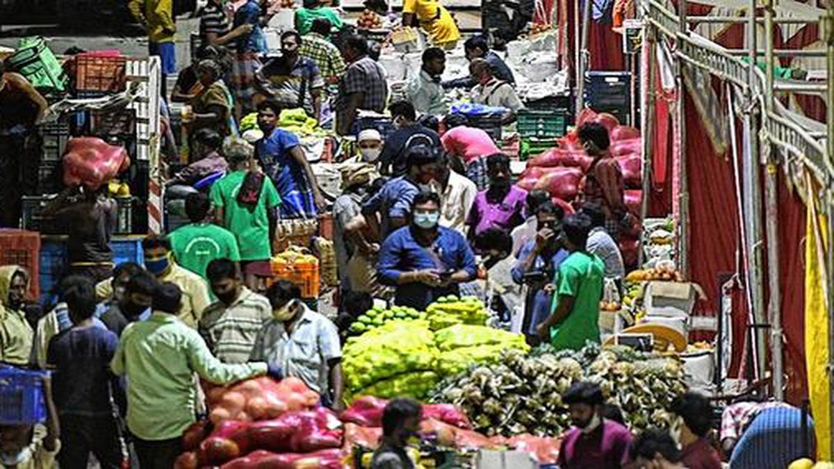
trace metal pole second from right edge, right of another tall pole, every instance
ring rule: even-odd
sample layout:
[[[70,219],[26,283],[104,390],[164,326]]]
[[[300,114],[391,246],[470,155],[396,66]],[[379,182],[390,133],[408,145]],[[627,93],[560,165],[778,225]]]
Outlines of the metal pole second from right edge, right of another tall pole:
[[[764,0],[765,6],[765,88],[773,89],[773,1]],[[764,113],[773,109],[773,93],[765,93]],[[767,286],[770,297],[767,317],[771,323],[771,366],[773,370],[773,395],[783,401],[784,366],[782,355],[781,290],[779,290],[779,229],[776,219],[779,209],[776,200],[776,161],[768,141],[761,143],[762,164],[766,164],[765,176],[765,229],[767,236]]]

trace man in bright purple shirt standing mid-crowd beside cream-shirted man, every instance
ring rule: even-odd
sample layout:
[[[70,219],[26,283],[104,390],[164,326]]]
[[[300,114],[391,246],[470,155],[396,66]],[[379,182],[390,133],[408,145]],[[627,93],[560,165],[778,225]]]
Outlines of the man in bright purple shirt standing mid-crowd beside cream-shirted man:
[[[486,159],[486,174],[490,185],[475,197],[475,204],[466,220],[466,224],[470,225],[470,240],[475,240],[475,236],[490,228],[510,233],[525,220],[527,191],[511,183],[510,158],[505,154],[490,154]]]

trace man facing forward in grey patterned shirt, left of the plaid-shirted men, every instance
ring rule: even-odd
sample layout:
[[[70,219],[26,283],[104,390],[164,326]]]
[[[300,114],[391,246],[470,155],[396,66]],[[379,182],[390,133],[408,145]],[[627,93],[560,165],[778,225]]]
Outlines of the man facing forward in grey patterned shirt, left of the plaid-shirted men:
[[[281,34],[281,57],[264,63],[256,77],[257,88],[281,108],[304,108],[317,121],[321,119],[321,92],[324,79],[319,66],[299,55],[301,35],[295,31]]]

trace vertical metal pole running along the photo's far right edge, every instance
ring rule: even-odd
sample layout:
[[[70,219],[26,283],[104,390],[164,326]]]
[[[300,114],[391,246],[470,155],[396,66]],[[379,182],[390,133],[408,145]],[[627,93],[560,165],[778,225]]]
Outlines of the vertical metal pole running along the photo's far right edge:
[[[828,76],[834,77],[834,3],[829,2],[825,16],[822,18],[822,30],[825,34],[826,40],[826,68],[828,69]],[[828,103],[826,128],[828,130],[828,139],[826,140],[826,156],[828,161],[834,161],[834,86],[831,81],[828,82],[828,89],[826,90],[826,101]],[[824,200],[825,198],[820,198]],[[834,422],[834,229],[831,225],[834,224],[834,217],[831,213],[831,204],[829,203],[828,213],[828,244],[826,248],[826,280],[827,280],[827,297],[828,297],[828,398],[830,420]],[[834,438],[831,438],[831,452],[834,455]]]

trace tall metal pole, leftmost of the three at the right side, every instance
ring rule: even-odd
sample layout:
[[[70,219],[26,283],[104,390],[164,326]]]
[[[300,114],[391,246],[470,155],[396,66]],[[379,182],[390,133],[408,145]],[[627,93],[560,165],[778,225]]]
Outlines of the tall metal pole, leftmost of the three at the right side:
[[[764,283],[762,280],[762,262],[761,262],[761,242],[763,238],[761,226],[761,177],[759,176],[759,145],[758,134],[759,125],[756,116],[755,90],[756,90],[756,0],[750,0],[749,18],[747,22],[747,48],[749,48],[748,58],[750,60],[750,72],[747,78],[747,108],[750,113],[747,115],[747,125],[745,134],[747,139],[747,149],[749,152],[742,155],[742,178],[745,204],[744,204],[744,223],[746,225],[746,244],[747,244],[747,288],[750,289],[752,305],[750,305],[753,312],[753,320],[756,325],[751,325],[752,334],[755,335],[756,347],[755,361],[752,363],[756,366],[756,371],[759,375],[765,371],[765,344],[766,336],[764,330],[761,328],[766,321],[765,317],[765,302],[764,302]]]

